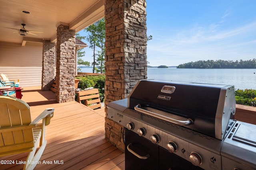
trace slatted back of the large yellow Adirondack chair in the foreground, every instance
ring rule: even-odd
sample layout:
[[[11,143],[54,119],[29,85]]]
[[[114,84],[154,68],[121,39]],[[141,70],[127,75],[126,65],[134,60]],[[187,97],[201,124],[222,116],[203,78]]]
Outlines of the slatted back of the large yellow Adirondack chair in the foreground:
[[[14,97],[0,96],[0,108],[0,153],[33,147],[28,104]]]

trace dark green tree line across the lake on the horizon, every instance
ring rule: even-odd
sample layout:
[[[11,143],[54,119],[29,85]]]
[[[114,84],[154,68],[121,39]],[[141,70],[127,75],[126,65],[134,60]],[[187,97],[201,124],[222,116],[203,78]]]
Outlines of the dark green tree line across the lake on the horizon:
[[[240,61],[207,60],[180,64],[177,68],[256,68],[256,59]]]

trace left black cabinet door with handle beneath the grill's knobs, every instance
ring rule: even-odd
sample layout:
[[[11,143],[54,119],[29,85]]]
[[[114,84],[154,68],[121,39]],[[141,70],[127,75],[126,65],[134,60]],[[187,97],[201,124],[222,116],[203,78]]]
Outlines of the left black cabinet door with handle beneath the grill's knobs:
[[[127,149],[130,143],[132,143],[132,146],[130,145],[129,147],[130,149],[140,156],[149,154],[149,158],[140,159],[134,156]],[[125,170],[158,170],[158,164],[158,145],[125,129]]]

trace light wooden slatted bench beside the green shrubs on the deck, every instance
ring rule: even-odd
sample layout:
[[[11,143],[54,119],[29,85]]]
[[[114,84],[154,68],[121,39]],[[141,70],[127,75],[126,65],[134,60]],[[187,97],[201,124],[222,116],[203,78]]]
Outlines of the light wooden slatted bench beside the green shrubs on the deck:
[[[88,106],[92,109],[101,108],[100,94],[97,88],[78,92],[77,101],[81,103],[83,100],[85,106]]]

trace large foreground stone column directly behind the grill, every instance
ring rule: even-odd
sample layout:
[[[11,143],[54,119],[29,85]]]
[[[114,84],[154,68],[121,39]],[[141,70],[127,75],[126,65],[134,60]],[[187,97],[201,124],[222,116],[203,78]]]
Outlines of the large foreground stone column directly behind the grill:
[[[105,104],[147,78],[146,0],[105,0]],[[106,109],[107,114],[107,109]],[[105,117],[106,139],[124,152],[124,127]]]

